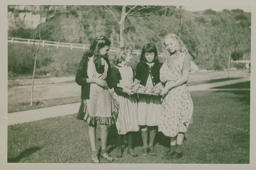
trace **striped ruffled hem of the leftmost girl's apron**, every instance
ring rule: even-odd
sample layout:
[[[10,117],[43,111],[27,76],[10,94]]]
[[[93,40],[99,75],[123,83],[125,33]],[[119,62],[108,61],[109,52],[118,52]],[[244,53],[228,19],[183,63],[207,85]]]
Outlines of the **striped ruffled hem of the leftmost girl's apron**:
[[[87,106],[86,106],[87,107]],[[87,110],[87,108],[85,109]],[[112,125],[116,123],[117,115],[119,110],[119,103],[113,98],[112,99],[112,116],[111,117],[99,117],[99,116],[91,116],[89,114],[85,114],[84,122],[95,125],[103,124],[103,125]]]

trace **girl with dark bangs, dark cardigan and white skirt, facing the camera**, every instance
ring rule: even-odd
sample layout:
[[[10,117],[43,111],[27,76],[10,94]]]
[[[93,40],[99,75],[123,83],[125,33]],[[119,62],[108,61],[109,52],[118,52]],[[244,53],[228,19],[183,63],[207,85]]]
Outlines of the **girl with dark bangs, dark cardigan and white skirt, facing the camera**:
[[[157,89],[163,88],[159,79],[159,70],[162,63],[158,60],[157,48],[153,43],[148,43],[143,46],[140,62],[137,64],[136,76],[133,85],[140,82],[141,85],[154,87]],[[156,155],[153,150],[153,144],[158,126],[158,114],[161,107],[161,97],[154,95],[139,94],[138,116],[143,141],[143,154],[147,156]],[[148,131],[150,141],[147,144]]]

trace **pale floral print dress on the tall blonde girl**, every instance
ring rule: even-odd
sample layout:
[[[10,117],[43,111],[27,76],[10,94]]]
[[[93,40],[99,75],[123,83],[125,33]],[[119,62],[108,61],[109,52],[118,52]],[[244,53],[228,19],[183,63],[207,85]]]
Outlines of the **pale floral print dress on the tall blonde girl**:
[[[187,53],[169,56],[160,69],[160,80],[168,86],[182,77],[184,64],[190,63]],[[186,83],[171,89],[163,98],[158,131],[165,136],[175,137],[179,132],[186,132],[193,114],[194,104]]]

